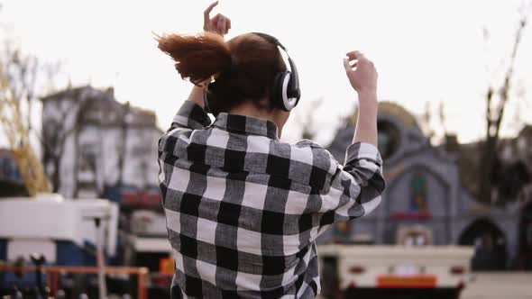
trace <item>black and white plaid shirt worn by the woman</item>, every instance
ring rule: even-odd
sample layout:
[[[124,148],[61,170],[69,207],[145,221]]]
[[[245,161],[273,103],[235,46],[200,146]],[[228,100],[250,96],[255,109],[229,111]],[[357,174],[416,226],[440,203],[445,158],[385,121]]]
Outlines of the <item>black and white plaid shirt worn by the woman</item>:
[[[381,155],[347,149],[344,167],[310,140],[277,139],[273,122],[186,101],[159,141],[159,181],[184,298],[311,298],[316,237],[381,202]]]

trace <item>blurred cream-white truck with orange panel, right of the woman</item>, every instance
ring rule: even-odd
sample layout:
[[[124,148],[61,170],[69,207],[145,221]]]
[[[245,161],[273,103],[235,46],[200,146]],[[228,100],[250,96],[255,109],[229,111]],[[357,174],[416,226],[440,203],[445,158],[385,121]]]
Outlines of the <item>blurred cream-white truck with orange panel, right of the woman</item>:
[[[463,246],[318,246],[326,298],[458,298],[473,249]]]

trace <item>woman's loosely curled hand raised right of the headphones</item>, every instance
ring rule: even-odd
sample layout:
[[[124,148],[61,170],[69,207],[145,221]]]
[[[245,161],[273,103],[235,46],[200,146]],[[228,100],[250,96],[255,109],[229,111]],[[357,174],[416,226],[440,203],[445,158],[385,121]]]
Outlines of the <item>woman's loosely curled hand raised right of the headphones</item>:
[[[379,76],[373,62],[357,50],[347,53],[346,56],[344,58],[345,74],[354,90],[359,95],[376,95],[377,77]]]

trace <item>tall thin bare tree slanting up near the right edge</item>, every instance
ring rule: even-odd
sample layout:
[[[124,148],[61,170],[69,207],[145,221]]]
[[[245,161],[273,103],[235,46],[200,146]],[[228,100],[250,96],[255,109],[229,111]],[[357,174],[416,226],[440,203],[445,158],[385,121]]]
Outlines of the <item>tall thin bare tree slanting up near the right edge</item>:
[[[523,14],[518,23],[512,50],[509,56],[509,65],[505,70],[501,86],[491,84],[485,95],[486,100],[486,137],[482,142],[482,162],[480,167],[479,199],[487,204],[493,203],[492,190],[494,173],[497,171],[497,145],[500,140],[500,124],[504,117],[505,108],[509,102],[510,89],[513,81],[514,68],[518,54],[518,48],[527,26],[527,14]]]

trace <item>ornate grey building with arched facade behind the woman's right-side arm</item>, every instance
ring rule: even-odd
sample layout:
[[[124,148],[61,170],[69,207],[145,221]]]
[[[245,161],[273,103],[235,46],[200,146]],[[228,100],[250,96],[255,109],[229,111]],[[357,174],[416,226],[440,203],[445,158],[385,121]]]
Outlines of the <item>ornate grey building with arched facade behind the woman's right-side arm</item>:
[[[353,138],[354,123],[355,119],[348,119],[329,146],[340,161]],[[474,155],[475,147],[463,147],[456,142],[434,147],[416,118],[398,104],[379,105],[378,128],[387,179],[380,208],[362,219],[340,225],[321,241],[342,235],[345,240],[348,231],[347,240],[353,242],[473,245],[476,248],[474,268],[526,267],[523,252],[528,250],[528,255],[532,252],[532,217],[526,213],[532,210],[529,195],[504,205],[481,204],[467,187],[468,181],[463,179],[478,174],[463,163],[471,153]],[[523,144],[530,141],[532,138],[528,136],[526,141],[517,142],[527,155],[532,153],[532,147]],[[479,155],[476,156],[478,160]],[[532,168],[527,165],[525,169],[526,178]],[[519,190],[525,189],[521,187],[526,181],[523,179]],[[513,193],[514,196],[522,194]]]

